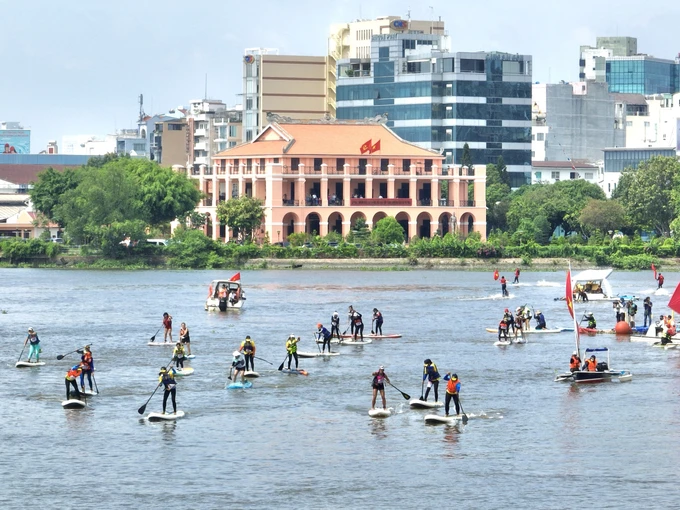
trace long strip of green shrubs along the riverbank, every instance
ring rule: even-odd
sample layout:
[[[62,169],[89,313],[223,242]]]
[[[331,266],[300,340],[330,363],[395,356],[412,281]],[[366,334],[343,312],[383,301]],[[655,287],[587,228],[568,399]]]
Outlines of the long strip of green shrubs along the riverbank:
[[[168,246],[137,246],[117,257],[104,257],[87,246],[69,248],[59,244],[30,240],[0,242],[0,265],[3,267],[75,267],[92,269],[209,269],[267,267],[457,267],[503,269],[520,266],[545,269],[563,267],[571,260],[575,267],[614,267],[649,269],[678,266],[680,241],[654,238],[643,242],[639,237],[619,239],[561,238],[547,245],[534,242],[503,245],[500,241],[482,242],[476,235],[463,239],[446,235],[432,239],[412,239],[403,244],[375,244],[370,240],[347,243],[319,236],[298,245],[279,246],[265,243],[221,243],[199,230],[184,230]]]

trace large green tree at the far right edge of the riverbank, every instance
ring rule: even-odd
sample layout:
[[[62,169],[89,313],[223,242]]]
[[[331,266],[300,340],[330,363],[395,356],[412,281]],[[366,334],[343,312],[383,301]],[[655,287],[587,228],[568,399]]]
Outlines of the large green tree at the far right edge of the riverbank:
[[[624,171],[615,195],[634,226],[668,235],[680,211],[680,162],[656,156]]]

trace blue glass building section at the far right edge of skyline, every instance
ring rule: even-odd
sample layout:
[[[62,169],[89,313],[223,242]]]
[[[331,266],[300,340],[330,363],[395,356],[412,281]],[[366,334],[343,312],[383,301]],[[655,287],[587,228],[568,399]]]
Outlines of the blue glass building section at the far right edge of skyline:
[[[647,55],[610,57],[606,64],[609,92],[675,94],[680,92],[680,61]]]

